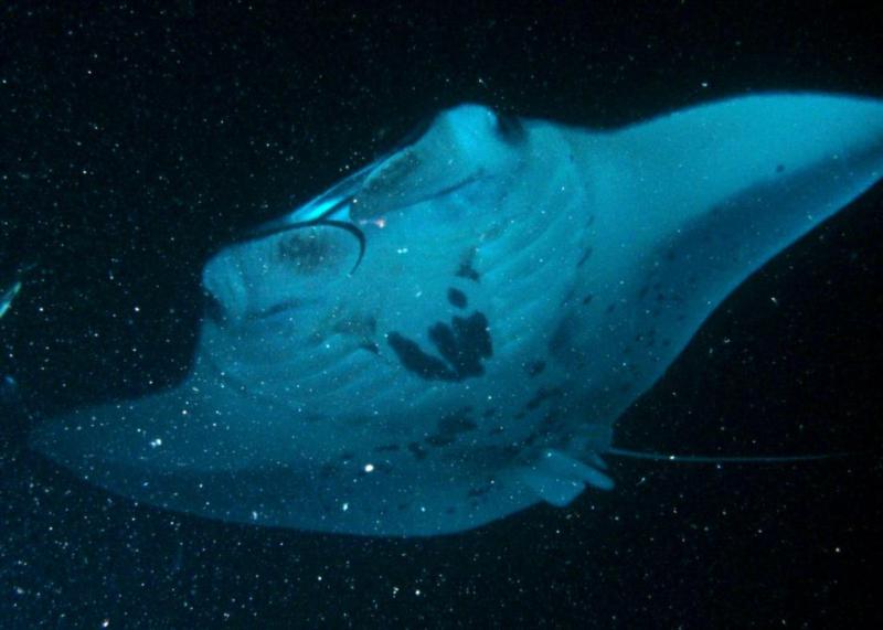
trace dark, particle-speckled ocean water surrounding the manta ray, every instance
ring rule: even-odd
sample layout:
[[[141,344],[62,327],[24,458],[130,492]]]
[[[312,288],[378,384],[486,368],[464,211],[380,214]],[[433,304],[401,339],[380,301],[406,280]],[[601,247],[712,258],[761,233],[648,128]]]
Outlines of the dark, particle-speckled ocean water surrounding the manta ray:
[[[873,2],[466,6],[0,6],[0,278],[39,265],[0,320],[0,627],[880,627],[880,184],[741,287],[616,434],[849,457],[610,458],[614,492],[403,541],[162,512],[26,449],[41,418],[182,378],[211,253],[443,107],[611,127],[883,97]]]

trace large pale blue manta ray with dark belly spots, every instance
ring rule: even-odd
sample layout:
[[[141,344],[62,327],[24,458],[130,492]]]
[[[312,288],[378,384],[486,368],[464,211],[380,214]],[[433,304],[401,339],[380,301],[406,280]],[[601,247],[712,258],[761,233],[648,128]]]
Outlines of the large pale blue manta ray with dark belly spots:
[[[156,506],[360,535],[609,490],[617,418],[717,305],[883,173],[883,102],[738,97],[613,130],[438,114],[217,252],[188,378],[32,445]]]

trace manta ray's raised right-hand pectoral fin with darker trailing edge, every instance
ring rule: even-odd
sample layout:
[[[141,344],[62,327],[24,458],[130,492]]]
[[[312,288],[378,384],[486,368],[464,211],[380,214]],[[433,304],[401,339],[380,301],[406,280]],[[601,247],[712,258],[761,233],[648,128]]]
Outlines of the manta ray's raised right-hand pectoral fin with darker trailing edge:
[[[883,103],[735,98],[582,141],[598,238],[581,281],[610,313],[585,344],[631,351],[623,386],[641,391],[745,278],[880,179]]]

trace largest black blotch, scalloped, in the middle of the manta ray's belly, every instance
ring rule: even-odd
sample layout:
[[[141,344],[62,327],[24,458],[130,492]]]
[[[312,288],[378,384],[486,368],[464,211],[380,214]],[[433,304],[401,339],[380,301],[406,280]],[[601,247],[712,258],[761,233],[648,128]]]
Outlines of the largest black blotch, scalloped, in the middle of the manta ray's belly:
[[[402,365],[427,381],[480,376],[485,373],[482,361],[493,354],[488,319],[478,311],[468,318],[453,318],[450,325],[437,322],[429,329],[429,340],[444,361],[397,332],[391,332],[387,339]]]

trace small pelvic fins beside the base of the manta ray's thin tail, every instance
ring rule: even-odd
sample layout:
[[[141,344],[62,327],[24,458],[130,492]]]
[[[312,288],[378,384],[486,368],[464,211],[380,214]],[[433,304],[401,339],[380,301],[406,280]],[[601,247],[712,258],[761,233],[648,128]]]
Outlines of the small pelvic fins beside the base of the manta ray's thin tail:
[[[546,450],[530,467],[518,470],[521,481],[543,501],[567,505],[586,485],[611,490],[614,481],[597,468],[587,466],[557,450]]]

